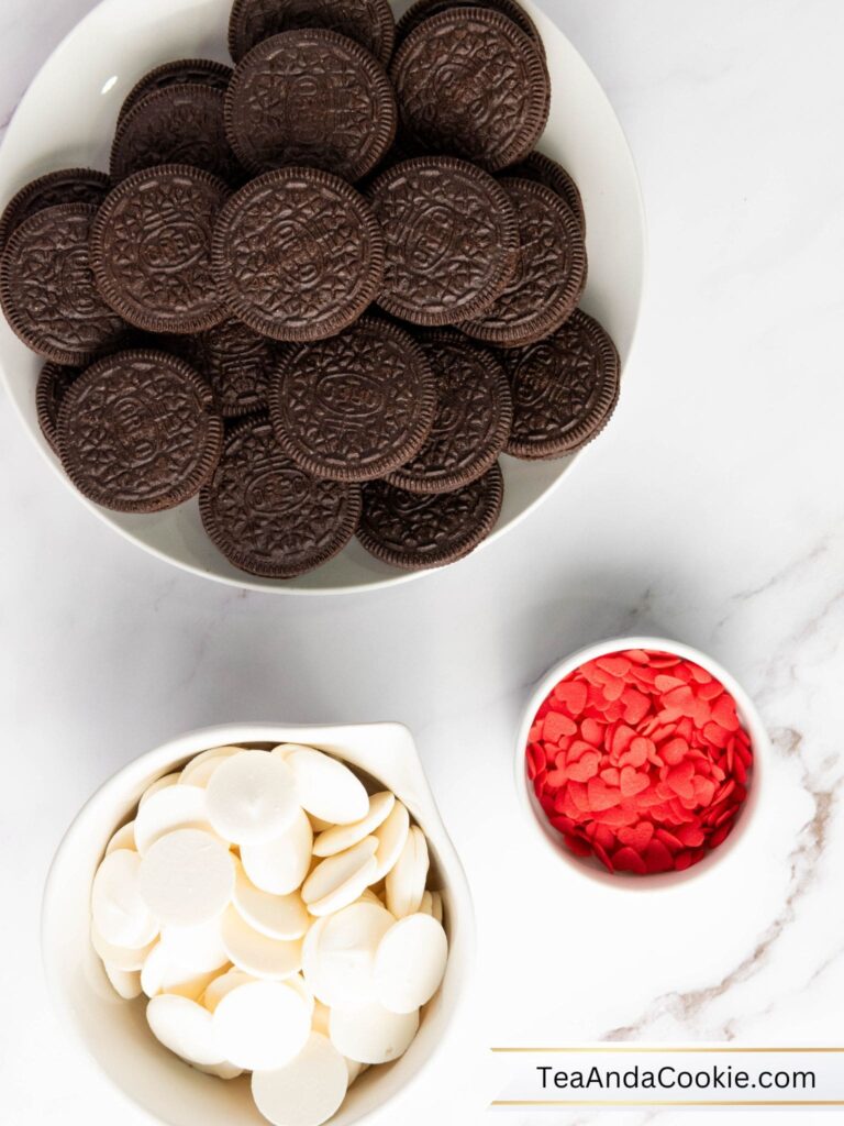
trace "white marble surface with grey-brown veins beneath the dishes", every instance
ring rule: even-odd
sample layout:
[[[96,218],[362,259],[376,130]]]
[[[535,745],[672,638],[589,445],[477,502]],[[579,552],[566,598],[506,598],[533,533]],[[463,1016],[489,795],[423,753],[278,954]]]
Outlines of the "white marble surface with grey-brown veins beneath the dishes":
[[[89,7],[6,0],[0,120]],[[841,1043],[844,11],[542,7],[628,131],[650,274],[613,425],[510,537],[386,593],[242,595],[146,557],[74,504],[0,403],[3,1121],[140,1121],[50,1010],[41,886],[102,779],[172,734],[237,718],[397,718],[420,742],[474,888],[479,951],[464,1035],[403,1123],[485,1121],[506,1078],[492,1044]],[[582,882],[536,846],[514,801],[529,686],[622,632],[711,652],[775,743],[747,861],[658,896]]]

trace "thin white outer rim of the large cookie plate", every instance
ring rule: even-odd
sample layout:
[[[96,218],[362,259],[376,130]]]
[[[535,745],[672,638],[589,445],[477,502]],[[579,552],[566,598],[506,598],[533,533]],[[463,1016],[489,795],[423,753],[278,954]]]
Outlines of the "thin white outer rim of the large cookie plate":
[[[50,70],[51,65],[54,62],[55,56],[59,55],[59,54],[61,54],[62,52],[64,52],[68,48],[70,42],[77,36],[77,34],[80,33],[80,30],[83,29],[84,26],[88,23],[93,23],[96,20],[97,14],[98,14],[99,9],[102,8],[102,7],[105,7],[107,3],[110,3],[110,2],[114,2],[114,0],[99,0],[99,3],[96,5],[95,8],[92,8],[89,12],[87,12],[82,17],[82,19],[80,19],[73,27],[71,27],[68,30],[68,33],[63,36],[63,38],[60,41],[60,43],[56,45],[56,47],[51,52],[51,54],[48,55],[48,57],[38,68],[36,74],[34,75],[34,78],[32,79],[32,81],[29,83],[29,87],[35,86],[42,79],[42,77]],[[562,36],[563,39],[565,39],[565,42],[568,44],[568,46],[571,47],[571,50],[577,55],[577,57],[578,57],[580,62],[582,63],[583,68],[585,69],[585,71],[589,73],[589,75],[591,77],[591,79],[594,81],[596,88],[603,95],[604,99],[607,100],[608,106],[612,110],[612,115],[613,115],[613,118],[614,118],[614,122],[616,122],[616,126],[618,128],[618,133],[619,133],[619,136],[620,136],[621,142],[622,142],[621,149],[622,149],[623,158],[628,162],[628,164],[630,166],[630,169],[631,169],[631,172],[632,172],[631,184],[632,184],[632,187],[634,187],[634,197],[635,197],[635,202],[636,202],[636,212],[637,212],[637,220],[638,220],[638,226],[639,226],[639,235],[640,235],[640,241],[641,241],[641,245],[640,245],[641,258],[640,258],[640,263],[639,263],[639,278],[638,278],[639,296],[638,296],[638,303],[637,303],[637,306],[636,306],[635,316],[634,316],[634,321],[632,321],[632,325],[631,325],[631,330],[630,330],[630,338],[629,338],[629,343],[628,343],[628,348],[627,348],[627,356],[626,356],[626,360],[625,360],[625,367],[629,367],[630,358],[634,355],[634,351],[635,351],[635,348],[636,348],[636,343],[637,343],[637,340],[638,340],[638,337],[639,337],[640,325],[641,325],[641,313],[643,313],[643,307],[644,307],[645,300],[646,300],[646,294],[647,294],[648,262],[649,262],[649,236],[648,236],[648,226],[647,226],[647,213],[646,213],[646,208],[645,208],[645,200],[644,200],[643,188],[641,188],[641,178],[639,176],[637,162],[636,162],[636,159],[634,157],[632,149],[630,146],[629,138],[627,136],[627,132],[626,132],[626,129],[625,129],[621,120],[619,119],[618,115],[614,113],[614,107],[610,102],[609,96],[607,95],[607,92],[605,92],[605,90],[603,88],[603,84],[599,81],[598,75],[594,73],[594,71],[589,65],[589,63],[586,62],[586,60],[583,57],[583,55],[581,54],[581,52],[577,51],[577,48],[571,42],[571,39],[565,34],[565,32],[563,30],[563,28],[559,26],[559,24],[557,23],[557,20],[555,18],[553,18],[549,14],[545,12],[542,9],[537,8],[537,6],[535,3],[535,0],[521,0],[521,2],[526,7],[526,9],[528,10],[528,14],[531,16],[531,18],[536,23],[538,23],[540,26],[542,24],[549,24],[549,25],[551,25],[555,28],[555,32],[559,36]],[[29,93],[29,87],[25,91],[24,97],[20,99],[20,101],[18,104],[18,107],[16,108],[15,113],[12,114],[12,117],[11,117],[11,120],[10,120],[9,125],[11,125],[14,123],[15,117],[18,115],[18,111],[20,110],[20,108],[23,107],[24,102],[26,101],[26,99],[28,97],[28,93]],[[541,142],[540,142],[540,144],[541,144]],[[0,142],[0,154],[1,153],[2,153],[2,142]],[[86,498],[81,493],[79,493],[73,488],[73,485],[71,484],[71,482],[68,479],[66,474],[61,468],[60,463],[52,455],[52,452],[50,450],[46,441],[44,441],[44,440],[41,439],[39,434],[37,432],[37,428],[34,428],[33,426],[30,426],[29,421],[24,415],[24,411],[20,408],[20,404],[18,403],[17,396],[12,392],[11,382],[10,382],[9,376],[7,375],[6,367],[5,367],[3,364],[0,364],[0,383],[2,384],[3,388],[6,390],[7,395],[11,400],[12,408],[14,408],[15,412],[17,413],[20,422],[21,422],[23,429],[28,434],[29,439],[35,444],[36,448],[39,450],[42,457],[50,465],[51,470],[55,474],[57,474],[57,476],[62,481],[62,483],[68,489],[70,489],[73,492],[73,494],[77,497],[77,499],[82,502],[82,504],[89,510],[89,512],[91,512],[97,519],[101,520],[113,531],[117,531],[123,537],[123,539],[125,539],[127,543],[133,544],[135,547],[141,547],[144,552],[146,552],[149,555],[153,556],[154,558],[161,561],[162,563],[169,564],[170,566],[176,566],[176,568],[178,568],[180,571],[182,571],[185,573],[196,575],[197,578],[200,578],[200,579],[212,580],[213,582],[222,583],[223,586],[231,587],[231,588],[234,588],[236,590],[254,590],[254,591],[263,591],[263,592],[272,593],[272,595],[288,595],[288,596],[296,596],[296,597],[303,597],[303,596],[304,597],[325,597],[325,596],[332,596],[332,595],[362,595],[362,593],[367,593],[369,591],[380,591],[380,590],[385,590],[385,589],[393,588],[393,587],[399,587],[399,586],[403,586],[405,583],[410,583],[410,582],[413,582],[415,580],[422,579],[422,578],[427,577],[427,575],[438,574],[441,571],[447,570],[447,569],[441,569],[441,568],[431,568],[431,569],[421,570],[421,571],[399,571],[399,570],[396,570],[396,572],[394,574],[385,575],[384,578],[380,578],[380,579],[375,579],[371,582],[366,582],[366,583],[339,583],[339,584],[332,586],[332,587],[313,587],[312,588],[312,587],[297,587],[297,586],[291,586],[291,584],[287,584],[287,583],[284,583],[284,582],[278,582],[278,581],[269,580],[269,579],[261,579],[260,577],[249,575],[246,573],[243,573],[243,575],[241,575],[241,577],[235,575],[235,574],[231,574],[231,575],[230,574],[219,574],[219,573],[216,573],[216,572],[213,572],[213,571],[205,570],[203,566],[200,566],[200,565],[198,565],[196,563],[192,563],[192,562],[190,562],[188,560],[178,558],[173,554],[171,554],[171,553],[169,553],[167,551],[163,551],[160,547],[158,547],[158,546],[155,546],[155,545],[153,545],[151,543],[147,543],[143,538],[140,538],[138,536],[136,536],[135,534],[133,534],[129,530],[129,528],[124,527],[120,524],[114,522],[114,520],[111,519],[113,513],[109,513],[107,510],[100,508],[99,506],[97,506],[92,501],[90,501],[88,498]],[[545,491],[542,493],[540,493],[538,497],[536,497],[529,504],[527,504],[523,509],[521,509],[521,511],[519,511],[517,515],[514,515],[509,520],[509,522],[506,525],[504,525],[503,527],[496,527],[491,533],[491,535],[487,536],[487,538],[475,549],[475,553],[473,553],[473,554],[476,554],[477,552],[483,551],[487,546],[490,546],[493,543],[497,542],[502,536],[504,536],[510,530],[515,529],[524,519],[527,519],[527,517],[529,517],[537,508],[539,508],[540,504],[542,504],[546,500],[549,500],[556,493],[557,489],[562,485],[563,481],[566,480],[568,477],[568,475],[572,473],[572,471],[574,470],[575,464],[580,463],[583,459],[584,456],[590,456],[592,454],[592,452],[593,452],[593,444],[590,445],[590,446],[584,447],[581,450],[577,450],[574,455],[571,455],[571,457],[567,458],[568,465],[567,465],[566,470],[564,470],[557,477],[555,477],[555,480],[545,489]]]

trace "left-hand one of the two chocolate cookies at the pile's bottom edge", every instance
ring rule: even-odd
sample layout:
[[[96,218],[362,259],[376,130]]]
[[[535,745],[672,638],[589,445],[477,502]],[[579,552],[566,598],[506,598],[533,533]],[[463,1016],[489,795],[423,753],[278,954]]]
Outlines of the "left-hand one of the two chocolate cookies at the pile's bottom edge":
[[[267,579],[295,579],[342,551],[360,503],[360,485],[320,480],[291,462],[260,415],[234,427],[199,495],[213,543],[234,566]]]

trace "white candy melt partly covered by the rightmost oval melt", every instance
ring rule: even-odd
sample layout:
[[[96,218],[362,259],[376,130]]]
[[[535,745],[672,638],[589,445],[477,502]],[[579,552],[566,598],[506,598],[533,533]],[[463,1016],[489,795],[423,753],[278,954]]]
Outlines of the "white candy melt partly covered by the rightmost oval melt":
[[[375,957],[394,924],[385,908],[361,902],[324,920],[303,957],[305,980],[324,1004],[348,1008],[376,999]]]

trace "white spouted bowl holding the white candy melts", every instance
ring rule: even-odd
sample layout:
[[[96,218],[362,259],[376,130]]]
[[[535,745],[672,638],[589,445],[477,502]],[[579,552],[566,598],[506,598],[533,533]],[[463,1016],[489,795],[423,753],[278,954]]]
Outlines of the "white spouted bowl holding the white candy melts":
[[[419,1035],[394,1064],[370,1069],[349,1091],[332,1126],[352,1126],[404,1094],[430,1067],[452,1030],[474,962],[472,897],[440,819],[413,738],[401,724],[294,727],[253,723],[182,735],[118,771],[84,805],[62,841],[47,877],[42,947],[51,994],[74,1039],[150,1123],[168,1126],[267,1126],[245,1078],[204,1075],[163,1048],[150,1031],[142,1000],[120,1000],[90,938],[93,875],[114,830],[146,787],[209,747],[305,743],[344,759],[392,789],[425,833],[436,884],[442,888],[449,960],[440,992]]]

